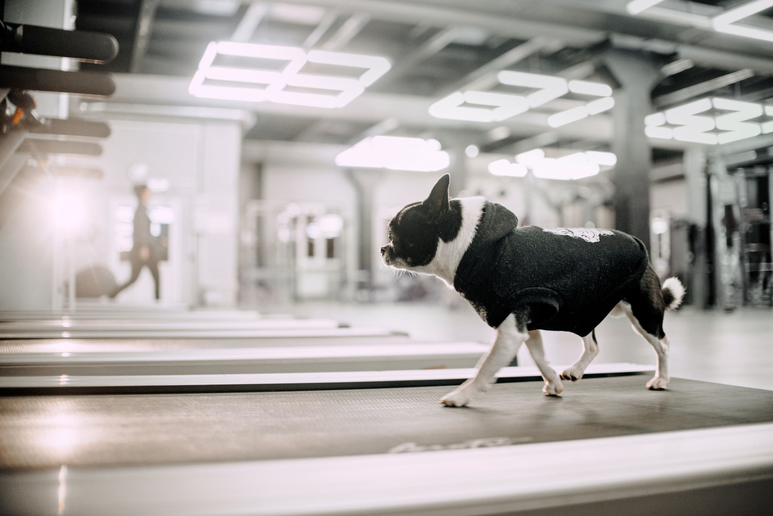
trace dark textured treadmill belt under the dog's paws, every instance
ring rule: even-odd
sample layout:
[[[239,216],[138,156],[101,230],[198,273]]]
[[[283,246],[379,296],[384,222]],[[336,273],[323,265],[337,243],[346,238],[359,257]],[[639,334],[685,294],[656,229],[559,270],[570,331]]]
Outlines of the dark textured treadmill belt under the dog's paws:
[[[591,439],[773,421],[773,392],[640,375],[448,387],[0,398],[0,467],[108,467],[333,457]]]

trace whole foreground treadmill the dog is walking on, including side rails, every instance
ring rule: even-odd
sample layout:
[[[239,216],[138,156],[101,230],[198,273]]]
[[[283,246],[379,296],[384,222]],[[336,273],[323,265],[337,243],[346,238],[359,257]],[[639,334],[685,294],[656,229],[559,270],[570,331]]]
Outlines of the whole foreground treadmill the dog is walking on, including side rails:
[[[651,369],[6,376],[0,513],[770,514],[773,392]]]

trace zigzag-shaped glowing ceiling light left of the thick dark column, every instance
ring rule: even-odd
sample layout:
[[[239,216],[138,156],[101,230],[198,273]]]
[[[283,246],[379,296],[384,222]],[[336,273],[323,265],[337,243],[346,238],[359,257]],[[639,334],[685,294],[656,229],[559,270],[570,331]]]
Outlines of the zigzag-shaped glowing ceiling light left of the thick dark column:
[[[589,114],[601,113],[615,105],[615,101],[609,97],[612,94],[611,87],[603,83],[591,83],[584,80],[567,82],[563,77],[512,70],[502,70],[497,74],[497,80],[506,86],[535,89],[536,91],[525,95],[494,91],[457,91],[432,104],[429,113],[436,118],[451,120],[501,122],[534,107],[547,104],[550,100],[563,97],[570,91],[579,95],[602,97],[598,100],[591,100],[585,106],[581,106],[579,110],[575,108],[575,110],[569,110],[571,113],[564,111],[549,117],[548,124],[550,124],[550,119],[553,119],[556,125],[550,124],[551,127],[558,127],[580,120]]]

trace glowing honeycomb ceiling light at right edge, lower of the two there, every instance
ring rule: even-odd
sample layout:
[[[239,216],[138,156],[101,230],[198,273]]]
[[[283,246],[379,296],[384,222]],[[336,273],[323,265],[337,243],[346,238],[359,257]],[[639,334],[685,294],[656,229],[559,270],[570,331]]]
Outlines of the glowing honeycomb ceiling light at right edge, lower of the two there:
[[[741,100],[706,97],[644,118],[645,134],[662,140],[726,144],[773,132],[768,106]]]

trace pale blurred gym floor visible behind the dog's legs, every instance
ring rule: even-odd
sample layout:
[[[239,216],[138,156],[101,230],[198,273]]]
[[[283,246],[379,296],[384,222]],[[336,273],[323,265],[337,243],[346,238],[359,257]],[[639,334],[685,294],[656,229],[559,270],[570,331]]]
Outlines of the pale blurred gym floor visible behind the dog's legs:
[[[431,304],[301,303],[287,311],[301,317],[333,317],[352,326],[378,326],[407,331],[417,341],[489,342],[494,331],[468,304],[454,308]],[[741,387],[773,390],[773,313],[764,309],[700,311],[683,307],[667,312],[663,328],[671,340],[671,375]],[[631,328],[625,317],[607,317],[596,330],[601,351],[594,360],[654,364],[655,352]],[[577,335],[543,331],[553,365],[569,365],[580,356]],[[526,347],[519,365],[533,365]]]

